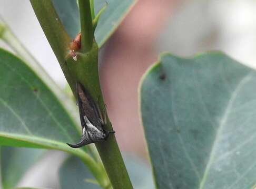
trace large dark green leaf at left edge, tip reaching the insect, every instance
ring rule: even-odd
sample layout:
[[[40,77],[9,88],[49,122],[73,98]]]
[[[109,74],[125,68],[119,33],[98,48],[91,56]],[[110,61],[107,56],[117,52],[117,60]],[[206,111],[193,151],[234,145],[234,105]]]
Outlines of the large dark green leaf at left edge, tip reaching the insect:
[[[0,49],[0,144],[56,149],[78,131],[52,91],[24,62]]]

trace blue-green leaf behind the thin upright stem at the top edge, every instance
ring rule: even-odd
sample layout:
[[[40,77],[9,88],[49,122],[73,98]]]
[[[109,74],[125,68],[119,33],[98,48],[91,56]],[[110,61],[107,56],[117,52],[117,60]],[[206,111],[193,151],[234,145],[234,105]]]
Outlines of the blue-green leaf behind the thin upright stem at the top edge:
[[[65,30],[74,38],[80,32],[80,16],[76,0],[52,0]],[[107,8],[101,15],[95,31],[95,39],[100,47],[114,33],[136,0],[109,0]],[[94,10],[97,14],[106,5],[106,1],[94,0]]]

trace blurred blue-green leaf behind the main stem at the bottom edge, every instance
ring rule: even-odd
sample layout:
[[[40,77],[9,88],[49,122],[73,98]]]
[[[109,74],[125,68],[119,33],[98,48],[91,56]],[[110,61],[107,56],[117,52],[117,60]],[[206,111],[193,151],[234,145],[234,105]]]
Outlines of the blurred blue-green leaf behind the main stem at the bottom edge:
[[[150,189],[154,188],[151,170],[141,159],[126,155],[125,165],[130,175],[134,188]],[[94,183],[95,178],[88,171],[80,159],[68,158],[60,169],[60,183],[62,189],[69,188],[101,188]]]

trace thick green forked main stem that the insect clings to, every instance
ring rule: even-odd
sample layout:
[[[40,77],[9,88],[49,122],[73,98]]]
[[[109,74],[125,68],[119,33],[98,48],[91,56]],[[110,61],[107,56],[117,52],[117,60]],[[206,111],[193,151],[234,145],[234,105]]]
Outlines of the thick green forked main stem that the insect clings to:
[[[71,40],[60,19],[58,19],[51,1],[31,0],[31,4],[74,95],[76,96],[76,82],[79,81],[91,93],[95,102],[100,97],[100,108],[103,110],[105,104],[100,87],[97,62],[99,51],[97,44],[93,40],[90,0],[78,0],[81,16],[81,45],[83,54],[77,55],[77,61],[67,56],[66,49]],[[112,125],[109,119],[107,120],[107,124],[104,127],[106,130],[111,131],[113,130]],[[96,143],[96,147],[113,188],[132,188],[114,134],[111,134],[105,142]],[[104,172],[101,175],[104,175]]]

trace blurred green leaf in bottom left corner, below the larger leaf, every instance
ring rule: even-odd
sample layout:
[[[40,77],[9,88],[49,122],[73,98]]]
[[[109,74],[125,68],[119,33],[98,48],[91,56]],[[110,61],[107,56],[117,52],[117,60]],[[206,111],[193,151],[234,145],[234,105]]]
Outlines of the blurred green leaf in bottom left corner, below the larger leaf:
[[[44,150],[1,147],[1,175],[4,189],[13,188],[24,173],[45,153]]]

